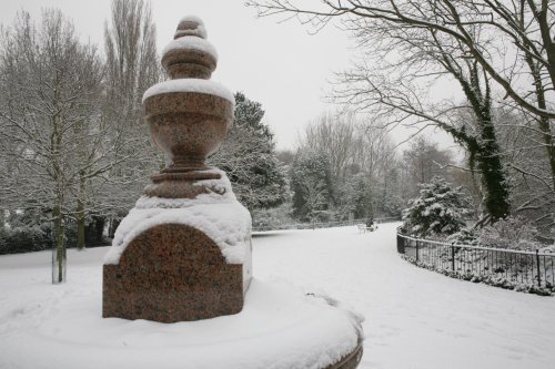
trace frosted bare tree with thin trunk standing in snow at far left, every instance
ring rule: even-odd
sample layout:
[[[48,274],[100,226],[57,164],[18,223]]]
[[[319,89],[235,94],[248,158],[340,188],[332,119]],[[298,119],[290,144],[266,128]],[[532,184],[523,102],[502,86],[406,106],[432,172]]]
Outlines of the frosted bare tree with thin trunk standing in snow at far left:
[[[102,64],[58,10],[44,10],[39,25],[19,13],[0,42],[1,152],[11,171],[2,201],[51,215],[59,263],[52,280],[60,283],[79,184],[110,166],[103,152],[91,151],[104,133],[98,125]]]

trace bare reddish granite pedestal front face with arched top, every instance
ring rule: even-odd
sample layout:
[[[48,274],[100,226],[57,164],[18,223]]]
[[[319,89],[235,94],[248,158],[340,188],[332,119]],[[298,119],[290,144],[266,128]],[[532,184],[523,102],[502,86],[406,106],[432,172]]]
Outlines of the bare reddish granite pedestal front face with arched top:
[[[103,277],[104,317],[174,322],[243,308],[243,266],[228,264],[210,237],[186,225],[141,233]]]

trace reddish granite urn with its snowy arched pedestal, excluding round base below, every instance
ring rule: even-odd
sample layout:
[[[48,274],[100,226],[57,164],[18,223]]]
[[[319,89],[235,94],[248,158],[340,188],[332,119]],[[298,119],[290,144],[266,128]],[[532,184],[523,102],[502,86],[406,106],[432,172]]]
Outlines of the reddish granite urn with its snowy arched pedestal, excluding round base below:
[[[236,314],[251,280],[251,217],[225,173],[205,165],[233,122],[234,98],[210,81],[218,54],[184,18],[163,50],[171,80],[143,115],[172,160],[121,222],[104,259],[103,317],[186,321]]]

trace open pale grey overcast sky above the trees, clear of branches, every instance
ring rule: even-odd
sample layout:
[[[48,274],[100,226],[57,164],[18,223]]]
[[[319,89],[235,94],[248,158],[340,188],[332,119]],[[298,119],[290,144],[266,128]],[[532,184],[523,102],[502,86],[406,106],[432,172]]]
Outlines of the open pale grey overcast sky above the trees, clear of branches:
[[[158,50],[173,39],[183,16],[203,19],[208,39],[219,53],[212,79],[262,103],[278,148],[291,148],[297,132],[309,121],[333,109],[322,98],[333,72],[349,66],[350,41],[334,27],[311,35],[296,21],[276,23],[275,18],[256,19],[254,9],[243,2],[151,0]],[[2,24],[11,24],[20,9],[38,19],[41,8],[59,8],[73,20],[83,40],[90,38],[103,50],[103,24],[110,16],[110,0],[0,0],[0,4]]]

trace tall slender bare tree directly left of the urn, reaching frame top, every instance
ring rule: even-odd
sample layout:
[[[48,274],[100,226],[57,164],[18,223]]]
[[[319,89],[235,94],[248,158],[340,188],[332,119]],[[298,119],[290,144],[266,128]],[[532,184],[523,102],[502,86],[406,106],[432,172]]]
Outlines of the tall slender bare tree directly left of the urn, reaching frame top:
[[[121,164],[105,176],[104,191],[98,199],[109,211],[111,233],[149,176],[164,164],[141,115],[144,91],[162,78],[155,37],[148,2],[112,1],[111,18],[104,24],[107,75],[102,119],[111,127],[111,144],[118,147]]]

